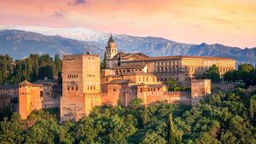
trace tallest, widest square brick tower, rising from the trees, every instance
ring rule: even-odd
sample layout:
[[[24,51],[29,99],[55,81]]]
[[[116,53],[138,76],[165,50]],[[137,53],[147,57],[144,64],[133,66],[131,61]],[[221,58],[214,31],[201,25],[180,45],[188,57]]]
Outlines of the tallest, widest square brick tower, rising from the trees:
[[[100,92],[99,55],[63,55],[61,121],[84,117],[92,108],[86,95]]]

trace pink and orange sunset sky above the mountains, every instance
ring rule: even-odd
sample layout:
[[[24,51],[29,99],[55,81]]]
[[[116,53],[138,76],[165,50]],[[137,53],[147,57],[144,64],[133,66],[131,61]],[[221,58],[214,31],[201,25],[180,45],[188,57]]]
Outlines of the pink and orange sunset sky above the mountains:
[[[180,43],[256,47],[256,0],[0,0],[2,26],[83,26]]]

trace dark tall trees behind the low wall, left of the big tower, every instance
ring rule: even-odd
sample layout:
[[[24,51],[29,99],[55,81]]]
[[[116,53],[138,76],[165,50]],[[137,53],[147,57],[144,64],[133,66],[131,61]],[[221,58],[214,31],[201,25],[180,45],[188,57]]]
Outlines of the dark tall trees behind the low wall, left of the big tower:
[[[55,55],[30,55],[23,60],[13,60],[9,55],[0,55],[0,84],[19,84],[23,80],[60,78],[61,58]]]

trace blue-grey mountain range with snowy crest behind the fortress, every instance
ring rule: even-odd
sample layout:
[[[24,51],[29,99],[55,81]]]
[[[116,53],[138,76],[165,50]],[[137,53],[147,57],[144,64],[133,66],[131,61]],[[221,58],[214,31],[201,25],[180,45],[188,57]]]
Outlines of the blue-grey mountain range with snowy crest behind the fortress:
[[[50,28],[44,26],[0,26],[0,55],[22,59],[29,54],[67,55],[91,52],[103,56],[109,33],[74,26]],[[215,44],[177,43],[162,37],[113,35],[119,51],[142,52],[150,56],[201,55],[225,56],[238,63],[256,63],[256,48],[241,49]]]

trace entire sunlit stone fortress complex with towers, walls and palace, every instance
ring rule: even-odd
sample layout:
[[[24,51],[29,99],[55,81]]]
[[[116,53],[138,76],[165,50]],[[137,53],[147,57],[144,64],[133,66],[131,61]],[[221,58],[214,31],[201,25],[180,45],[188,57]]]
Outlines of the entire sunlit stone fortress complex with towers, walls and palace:
[[[45,78],[34,84],[24,81],[19,86],[0,86],[0,101],[11,104],[22,119],[32,110],[60,107],[61,121],[78,121],[96,106],[127,107],[135,98],[142,99],[144,105],[155,101],[194,105],[211,94],[211,81],[195,79],[196,73],[213,64],[221,76],[236,68],[235,60],[223,57],[125,54],[118,52],[112,36],[105,54],[108,69],[102,70],[99,55],[63,55],[62,84]],[[168,91],[168,78],[191,90]]]

